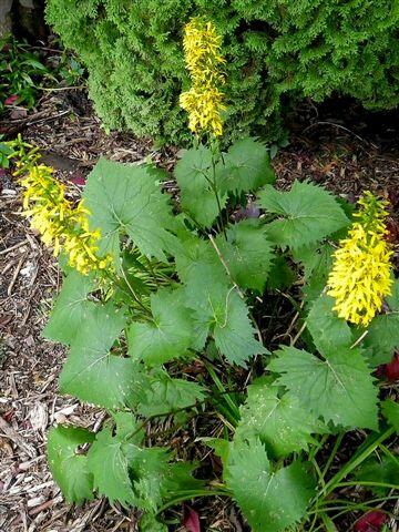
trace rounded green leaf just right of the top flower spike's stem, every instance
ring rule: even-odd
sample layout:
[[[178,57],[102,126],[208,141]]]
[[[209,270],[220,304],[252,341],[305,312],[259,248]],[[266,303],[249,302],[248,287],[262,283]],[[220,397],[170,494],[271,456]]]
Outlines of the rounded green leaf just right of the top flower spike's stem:
[[[218,174],[223,192],[256,191],[276,181],[269,152],[256,139],[236,141],[223,158],[225,166]]]

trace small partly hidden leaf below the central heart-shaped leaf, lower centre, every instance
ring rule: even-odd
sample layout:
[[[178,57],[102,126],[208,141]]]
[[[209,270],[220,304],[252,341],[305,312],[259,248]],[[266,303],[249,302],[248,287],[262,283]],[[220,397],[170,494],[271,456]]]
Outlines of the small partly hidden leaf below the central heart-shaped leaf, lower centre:
[[[151,379],[149,388],[142,395],[137,412],[142,416],[161,416],[195,406],[203,401],[205,390],[196,382],[171,378],[166,371]]]

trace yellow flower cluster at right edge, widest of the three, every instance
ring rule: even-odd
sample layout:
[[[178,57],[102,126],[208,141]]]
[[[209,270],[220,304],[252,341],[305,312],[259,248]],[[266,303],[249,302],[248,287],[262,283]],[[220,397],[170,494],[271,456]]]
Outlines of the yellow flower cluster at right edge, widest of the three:
[[[391,293],[392,252],[386,241],[386,202],[366,192],[359,200],[358,218],[334,254],[327,294],[336,300],[338,316],[367,327]]]

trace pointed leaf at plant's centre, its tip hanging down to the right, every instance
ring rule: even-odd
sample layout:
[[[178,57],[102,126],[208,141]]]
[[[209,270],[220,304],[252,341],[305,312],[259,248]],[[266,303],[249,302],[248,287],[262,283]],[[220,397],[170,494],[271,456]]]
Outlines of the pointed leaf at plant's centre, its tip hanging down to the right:
[[[212,332],[217,349],[229,362],[245,366],[253,355],[267,352],[255,340],[248,308],[233,286],[203,278],[187,286],[186,297],[193,309],[196,336],[204,340]]]

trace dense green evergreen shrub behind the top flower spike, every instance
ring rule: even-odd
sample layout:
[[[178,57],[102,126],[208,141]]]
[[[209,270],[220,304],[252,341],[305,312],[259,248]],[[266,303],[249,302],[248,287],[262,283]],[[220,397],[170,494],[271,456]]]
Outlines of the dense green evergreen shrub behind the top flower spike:
[[[283,101],[323,101],[338,92],[369,109],[399,103],[392,0],[48,0],[47,13],[86,66],[105,125],[137,135],[188,139],[178,108],[188,85],[181,41],[182,27],[196,14],[223,35],[226,129],[234,137],[276,139]]]

